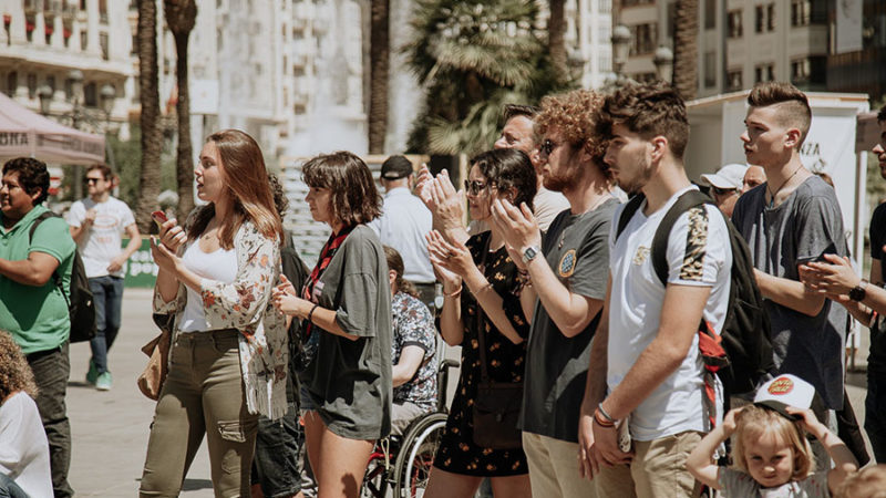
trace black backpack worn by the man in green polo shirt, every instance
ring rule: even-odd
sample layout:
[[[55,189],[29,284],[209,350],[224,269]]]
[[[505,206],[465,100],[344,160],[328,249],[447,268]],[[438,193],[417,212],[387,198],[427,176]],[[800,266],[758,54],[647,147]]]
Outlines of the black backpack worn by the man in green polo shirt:
[[[47,218],[61,218],[59,215],[47,211],[34,219],[31,230],[28,232],[28,240],[34,236],[37,227]],[[95,336],[95,302],[90,290],[90,281],[86,279],[86,268],[80,258],[80,251],[74,249],[74,262],[71,267],[71,286],[69,288],[70,299],[62,288],[62,276],[56,271],[52,272],[52,280],[55,287],[62,292],[62,297],[68,302],[68,314],[71,319],[71,342],[84,342]]]

